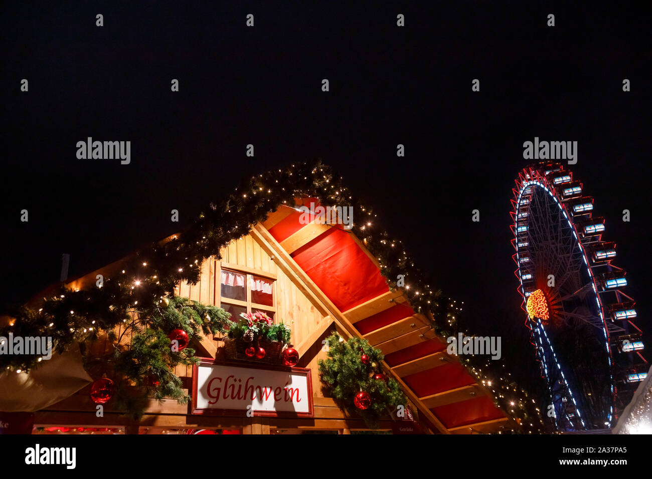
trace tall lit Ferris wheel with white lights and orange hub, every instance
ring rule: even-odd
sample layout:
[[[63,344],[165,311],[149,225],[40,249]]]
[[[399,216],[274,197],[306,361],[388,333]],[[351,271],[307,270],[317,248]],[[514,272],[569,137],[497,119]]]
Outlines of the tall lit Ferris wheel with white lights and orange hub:
[[[527,166],[513,192],[514,274],[556,427],[610,428],[647,371],[615,243],[563,164]]]

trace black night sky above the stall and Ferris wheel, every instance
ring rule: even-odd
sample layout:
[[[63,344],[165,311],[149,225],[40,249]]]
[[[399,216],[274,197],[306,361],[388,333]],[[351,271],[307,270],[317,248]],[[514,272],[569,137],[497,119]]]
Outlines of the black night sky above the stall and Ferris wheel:
[[[179,231],[244,177],[319,157],[465,302],[469,330],[520,357],[510,199],[538,136],[578,141],[571,169],[644,323],[648,16],[527,3],[3,2],[0,303],[57,282],[63,253],[69,277],[84,274]],[[131,163],[78,160],[89,136],[131,141]]]

